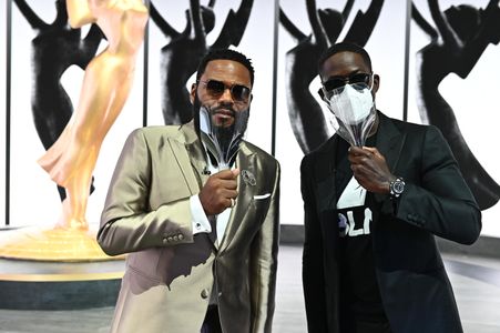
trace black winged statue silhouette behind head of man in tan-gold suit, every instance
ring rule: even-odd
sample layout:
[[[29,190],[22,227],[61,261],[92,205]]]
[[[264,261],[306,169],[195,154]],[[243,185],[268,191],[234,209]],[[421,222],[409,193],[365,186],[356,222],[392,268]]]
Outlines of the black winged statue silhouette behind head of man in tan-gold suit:
[[[239,8],[229,10],[221,33],[212,46],[206,37],[214,29],[215,0],[201,6],[200,0],[191,0],[185,11],[186,26],[182,32],[176,31],[150,2],[150,17],[162,33],[170,40],[161,49],[161,95],[162,112],[165,124],[182,124],[193,118],[187,80],[196,71],[202,57],[210,49],[237,47],[245,32],[252,11],[253,0],[242,0]]]

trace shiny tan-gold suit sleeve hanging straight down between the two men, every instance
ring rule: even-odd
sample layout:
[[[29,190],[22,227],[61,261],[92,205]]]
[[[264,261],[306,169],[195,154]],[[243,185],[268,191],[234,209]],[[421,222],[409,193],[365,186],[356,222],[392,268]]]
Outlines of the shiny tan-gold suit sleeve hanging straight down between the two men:
[[[264,222],[252,242],[251,254],[251,297],[253,333],[272,332],[276,293],[276,270],[279,245],[279,164],[276,163],[276,178],[269,208]]]

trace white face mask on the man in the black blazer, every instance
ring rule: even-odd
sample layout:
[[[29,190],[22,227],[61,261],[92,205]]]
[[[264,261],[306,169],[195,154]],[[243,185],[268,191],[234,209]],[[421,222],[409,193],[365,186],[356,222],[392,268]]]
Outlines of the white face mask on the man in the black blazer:
[[[365,84],[346,84],[328,92],[324,100],[335,115],[337,133],[351,145],[364,147],[377,112],[371,90]]]

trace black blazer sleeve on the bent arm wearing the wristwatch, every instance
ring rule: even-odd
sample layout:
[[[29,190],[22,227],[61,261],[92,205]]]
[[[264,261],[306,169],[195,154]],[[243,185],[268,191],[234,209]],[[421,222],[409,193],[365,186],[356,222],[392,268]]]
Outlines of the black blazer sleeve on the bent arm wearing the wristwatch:
[[[440,238],[472,244],[481,232],[481,211],[435,127],[426,132],[420,171],[421,184],[407,184],[396,216]]]

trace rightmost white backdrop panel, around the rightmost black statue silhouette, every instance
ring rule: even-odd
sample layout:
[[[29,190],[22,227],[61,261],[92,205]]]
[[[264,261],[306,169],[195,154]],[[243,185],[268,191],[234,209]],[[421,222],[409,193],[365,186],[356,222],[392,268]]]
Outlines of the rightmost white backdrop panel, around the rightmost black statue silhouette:
[[[488,0],[440,0],[440,10],[451,6],[468,4],[484,8]],[[436,29],[426,0],[414,0],[426,21]],[[411,22],[408,121],[422,123],[418,112],[417,52],[428,46],[430,39]],[[442,40],[439,40],[442,42]],[[439,85],[439,92],[453,110],[460,131],[480,164],[500,183],[500,160],[496,158],[500,121],[500,46],[489,44],[466,79],[450,73]],[[500,236],[500,204],[482,211],[482,235]]]

